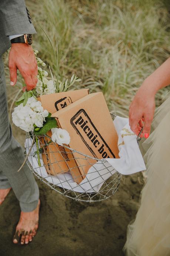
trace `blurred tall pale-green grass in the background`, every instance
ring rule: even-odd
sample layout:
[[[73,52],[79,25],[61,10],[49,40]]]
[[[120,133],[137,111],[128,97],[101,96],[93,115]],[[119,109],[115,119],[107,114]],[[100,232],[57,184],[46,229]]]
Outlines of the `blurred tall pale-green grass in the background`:
[[[56,50],[59,79],[76,73],[75,88],[102,91],[110,111],[128,116],[130,102],[143,82],[169,57],[169,14],[159,1],[27,0],[33,18]],[[56,76],[54,53],[36,22],[34,48]],[[156,95],[160,105],[168,88]]]

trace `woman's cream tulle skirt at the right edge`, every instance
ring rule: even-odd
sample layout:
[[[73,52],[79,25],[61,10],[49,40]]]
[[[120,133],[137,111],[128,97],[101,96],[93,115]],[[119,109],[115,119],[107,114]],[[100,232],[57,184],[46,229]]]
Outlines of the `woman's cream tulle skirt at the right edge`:
[[[170,93],[156,109],[154,131],[143,142],[147,182],[127,229],[127,256],[170,256]]]

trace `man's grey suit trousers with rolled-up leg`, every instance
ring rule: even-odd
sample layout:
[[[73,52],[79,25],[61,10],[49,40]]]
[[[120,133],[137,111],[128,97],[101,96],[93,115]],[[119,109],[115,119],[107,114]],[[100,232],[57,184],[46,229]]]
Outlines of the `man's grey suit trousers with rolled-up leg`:
[[[28,212],[37,206],[39,188],[27,164],[17,172],[23,161],[23,149],[11,133],[4,66],[0,56],[0,189],[12,187],[21,211]]]

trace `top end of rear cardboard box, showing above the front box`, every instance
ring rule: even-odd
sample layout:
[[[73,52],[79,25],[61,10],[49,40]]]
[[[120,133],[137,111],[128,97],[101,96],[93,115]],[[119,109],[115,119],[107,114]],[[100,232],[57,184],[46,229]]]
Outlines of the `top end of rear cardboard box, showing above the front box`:
[[[48,95],[42,95],[37,99],[41,101],[44,109],[53,114],[61,108],[65,108],[71,103],[83,98],[89,94],[89,89],[75,91],[59,92]]]

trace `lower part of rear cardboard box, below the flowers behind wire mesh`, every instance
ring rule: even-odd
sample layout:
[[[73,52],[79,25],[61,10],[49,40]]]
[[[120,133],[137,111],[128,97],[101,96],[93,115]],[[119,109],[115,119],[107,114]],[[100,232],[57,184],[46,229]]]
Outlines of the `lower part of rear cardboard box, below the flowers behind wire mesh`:
[[[47,135],[51,137],[51,131],[47,132]],[[48,137],[40,138],[40,147],[43,148],[42,158],[47,173],[55,175],[70,171],[73,179],[80,183],[83,178],[71,151],[54,142],[48,144],[49,141]]]

